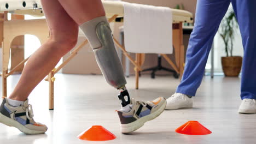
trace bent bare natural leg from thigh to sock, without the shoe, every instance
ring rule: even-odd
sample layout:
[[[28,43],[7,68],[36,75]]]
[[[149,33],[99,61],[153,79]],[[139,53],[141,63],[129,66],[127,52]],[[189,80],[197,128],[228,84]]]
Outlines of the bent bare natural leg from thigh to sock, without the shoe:
[[[77,43],[78,25],[57,0],[42,0],[50,30],[49,40],[28,60],[10,99],[25,101],[34,87],[55,67],[60,58]],[[85,8],[86,9],[86,8]]]

